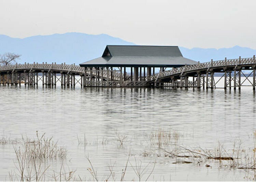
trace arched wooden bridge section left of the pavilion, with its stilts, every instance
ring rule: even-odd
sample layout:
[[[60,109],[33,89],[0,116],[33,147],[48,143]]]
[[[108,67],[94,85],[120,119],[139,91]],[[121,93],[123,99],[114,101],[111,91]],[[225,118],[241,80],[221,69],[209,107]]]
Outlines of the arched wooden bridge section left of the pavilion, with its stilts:
[[[101,78],[106,79],[106,72],[100,70],[90,70],[86,74],[85,69],[76,65],[66,65],[65,63],[47,64],[47,62],[25,63],[8,66],[0,66],[0,85],[38,85],[42,81],[42,85],[56,85],[60,82],[61,86],[85,86],[86,79]],[[60,75],[60,76],[58,76]],[[84,79],[86,78],[86,79]],[[120,80],[120,73],[113,71],[111,80]]]

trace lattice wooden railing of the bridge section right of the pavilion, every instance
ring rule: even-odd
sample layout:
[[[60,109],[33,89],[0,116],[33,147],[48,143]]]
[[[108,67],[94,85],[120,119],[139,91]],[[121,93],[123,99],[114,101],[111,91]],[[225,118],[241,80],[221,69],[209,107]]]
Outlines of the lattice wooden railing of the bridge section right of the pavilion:
[[[169,71],[163,71],[154,75],[151,75],[148,81],[153,81],[162,77],[167,77],[171,75],[182,74],[189,71],[196,71],[201,69],[210,69],[216,67],[225,67],[225,66],[239,66],[239,65],[251,65],[256,64],[255,57],[251,58],[238,58],[238,59],[225,59],[219,61],[210,61],[198,63],[195,65],[183,66],[179,68],[174,68]]]

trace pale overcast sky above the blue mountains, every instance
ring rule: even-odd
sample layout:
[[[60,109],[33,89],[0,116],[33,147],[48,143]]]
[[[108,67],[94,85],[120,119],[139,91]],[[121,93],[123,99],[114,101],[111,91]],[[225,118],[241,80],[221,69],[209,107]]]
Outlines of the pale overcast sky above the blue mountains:
[[[0,34],[108,34],[141,45],[256,49],[255,0],[0,0]]]

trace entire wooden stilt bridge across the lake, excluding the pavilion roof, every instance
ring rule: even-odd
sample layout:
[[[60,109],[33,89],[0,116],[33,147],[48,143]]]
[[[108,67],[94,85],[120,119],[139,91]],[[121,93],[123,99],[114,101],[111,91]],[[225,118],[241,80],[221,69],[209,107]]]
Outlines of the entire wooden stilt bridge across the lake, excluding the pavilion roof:
[[[56,85],[81,87],[172,87],[175,88],[203,88],[214,89],[219,80],[224,78],[224,89],[241,89],[242,86],[252,86],[255,90],[255,56],[251,58],[224,59],[219,61],[185,65],[168,71],[160,69],[156,74],[140,74],[134,83],[129,74],[123,74],[122,69],[108,68],[88,69],[65,63],[47,64],[17,64],[0,67],[0,83],[2,85]],[[245,74],[245,70],[249,70]],[[221,77],[214,79],[215,73]],[[60,76],[56,76],[60,75]],[[219,74],[218,74],[219,76]],[[248,79],[252,76],[252,81]],[[189,77],[193,80],[189,81]],[[216,77],[215,77],[216,78]],[[243,80],[242,80],[243,79]],[[245,85],[249,83],[249,85]],[[1,85],[0,84],[0,85]]]

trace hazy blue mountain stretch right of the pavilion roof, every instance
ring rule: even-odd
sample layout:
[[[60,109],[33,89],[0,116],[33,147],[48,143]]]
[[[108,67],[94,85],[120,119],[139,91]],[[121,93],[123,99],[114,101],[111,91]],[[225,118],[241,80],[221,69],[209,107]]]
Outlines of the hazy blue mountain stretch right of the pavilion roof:
[[[227,59],[253,57],[256,55],[256,50],[251,48],[244,48],[238,45],[232,48],[222,48],[222,49],[202,49],[202,48],[193,48],[187,49],[180,47],[182,55],[186,58],[200,61],[200,62],[209,62],[213,60],[223,60],[225,57]]]

